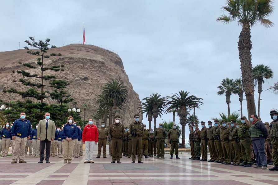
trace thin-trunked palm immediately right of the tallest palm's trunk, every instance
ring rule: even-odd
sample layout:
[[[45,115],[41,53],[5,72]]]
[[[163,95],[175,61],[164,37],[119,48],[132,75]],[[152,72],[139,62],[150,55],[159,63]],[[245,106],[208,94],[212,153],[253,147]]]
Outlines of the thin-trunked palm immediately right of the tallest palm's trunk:
[[[265,66],[263,64],[256,65],[253,68],[253,77],[255,80],[255,84],[258,84],[258,116],[260,117],[260,103],[261,103],[261,93],[262,93],[262,84],[265,83],[264,79],[273,78],[273,71],[269,66]]]

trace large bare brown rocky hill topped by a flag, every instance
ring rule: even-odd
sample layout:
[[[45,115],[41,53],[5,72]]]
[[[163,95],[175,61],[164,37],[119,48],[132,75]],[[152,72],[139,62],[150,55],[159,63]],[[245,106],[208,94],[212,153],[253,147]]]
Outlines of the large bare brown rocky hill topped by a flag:
[[[44,58],[44,65],[63,64],[65,67],[63,68],[64,71],[47,71],[45,74],[55,74],[58,79],[65,79],[70,82],[67,90],[74,101],[77,102],[76,108],[80,108],[82,104],[89,105],[86,111],[86,120],[97,110],[97,96],[102,92],[104,84],[108,80],[120,79],[123,85],[127,86],[128,97],[124,108],[118,110],[116,114],[121,116],[120,121],[125,126],[134,121],[133,116],[138,112],[137,107],[140,106],[139,96],[133,90],[124,70],[123,62],[117,54],[100,47],[81,44],[50,48],[48,54],[50,53],[61,53],[62,56]],[[25,49],[0,52],[0,99],[2,100],[14,101],[21,99],[17,94],[2,93],[3,89],[13,87],[18,90],[26,90],[26,86],[21,83],[12,82],[13,79],[22,77],[20,74],[12,73],[12,70],[24,69],[31,74],[40,74],[39,70],[25,68],[22,64],[18,64],[18,61],[22,63],[33,62],[35,65],[36,56],[28,54]],[[49,103],[51,103],[51,100],[49,100]],[[74,107],[73,105],[70,106],[70,108]]]

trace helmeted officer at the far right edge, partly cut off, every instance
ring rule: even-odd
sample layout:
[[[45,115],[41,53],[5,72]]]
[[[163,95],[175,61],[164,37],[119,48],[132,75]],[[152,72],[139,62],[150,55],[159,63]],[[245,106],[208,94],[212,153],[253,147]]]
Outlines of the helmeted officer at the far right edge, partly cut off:
[[[270,168],[271,171],[278,171],[278,110],[277,109],[271,109],[270,110],[270,116],[273,120],[269,126],[269,137],[271,139],[271,145],[272,145],[272,156],[273,156],[273,164],[274,167]]]

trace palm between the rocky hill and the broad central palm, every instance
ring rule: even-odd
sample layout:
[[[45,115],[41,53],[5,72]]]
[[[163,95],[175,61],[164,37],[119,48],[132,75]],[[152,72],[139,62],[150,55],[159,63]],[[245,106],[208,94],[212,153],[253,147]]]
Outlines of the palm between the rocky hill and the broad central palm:
[[[156,129],[156,118],[162,115],[162,112],[165,110],[166,106],[166,99],[161,98],[161,95],[158,93],[152,93],[150,97],[146,97],[149,101],[149,104],[152,106],[153,109],[153,118],[154,118],[154,130]]]

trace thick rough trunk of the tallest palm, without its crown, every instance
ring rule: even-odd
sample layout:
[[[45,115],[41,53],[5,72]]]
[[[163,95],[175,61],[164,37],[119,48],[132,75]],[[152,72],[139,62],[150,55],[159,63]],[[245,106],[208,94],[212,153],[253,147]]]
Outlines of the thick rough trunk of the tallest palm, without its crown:
[[[239,35],[238,49],[240,69],[242,75],[242,86],[246,95],[248,119],[252,114],[256,114],[256,105],[254,99],[254,77],[252,75],[252,58],[251,58],[251,29],[249,23],[243,23]]]

